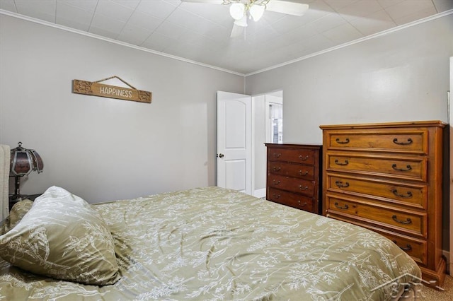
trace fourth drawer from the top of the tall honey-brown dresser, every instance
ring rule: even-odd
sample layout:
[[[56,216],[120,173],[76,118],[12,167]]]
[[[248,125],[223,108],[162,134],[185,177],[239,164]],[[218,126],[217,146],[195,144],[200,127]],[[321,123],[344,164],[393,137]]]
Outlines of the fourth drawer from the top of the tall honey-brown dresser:
[[[386,206],[373,206],[364,201],[343,199],[327,195],[327,213],[348,215],[351,218],[361,218],[391,230],[400,230],[410,235],[426,237],[426,214],[415,211],[398,211]]]

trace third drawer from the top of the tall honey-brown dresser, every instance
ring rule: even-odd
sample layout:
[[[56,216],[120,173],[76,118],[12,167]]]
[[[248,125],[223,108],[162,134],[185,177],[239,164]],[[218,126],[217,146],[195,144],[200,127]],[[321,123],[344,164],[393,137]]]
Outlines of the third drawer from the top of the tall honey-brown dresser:
[[[343,175],[327,175],[326,184],[330,191],[366,196],[414,208],[427,208],[428,187],[425,184],[345,177]]]

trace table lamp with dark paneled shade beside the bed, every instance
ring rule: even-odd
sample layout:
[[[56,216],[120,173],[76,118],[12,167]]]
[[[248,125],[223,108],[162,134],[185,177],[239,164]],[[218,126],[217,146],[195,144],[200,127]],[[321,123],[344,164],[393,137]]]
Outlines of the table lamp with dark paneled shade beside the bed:
[[[18,143],[17,148],[11,150],[10,175],[16,177],[16,189],[13,194],[13,199],[20,200],[24,196],[19,191],[21,184],[20,177],[28,175],[30,172],[42,172],[44,164],[38,152],[32,149],[22,147],[22,142]]]

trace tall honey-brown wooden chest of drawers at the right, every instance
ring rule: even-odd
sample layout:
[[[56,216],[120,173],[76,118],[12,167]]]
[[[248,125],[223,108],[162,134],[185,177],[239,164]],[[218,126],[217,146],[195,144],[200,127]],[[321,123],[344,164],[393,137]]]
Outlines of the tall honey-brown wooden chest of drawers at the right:
[[[433,287],[442,258],[442,122],[322,125],[323,215],[398,244]],[[425,283],[426,284],[426,283]]]

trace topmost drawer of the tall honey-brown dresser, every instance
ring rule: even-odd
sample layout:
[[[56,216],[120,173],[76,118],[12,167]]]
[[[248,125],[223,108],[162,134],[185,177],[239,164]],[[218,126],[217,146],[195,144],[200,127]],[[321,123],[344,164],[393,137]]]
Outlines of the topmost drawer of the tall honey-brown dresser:
[[[427,129],[343,130],[328,133],[328,148],[428,153]]]

